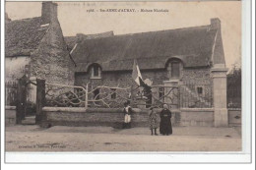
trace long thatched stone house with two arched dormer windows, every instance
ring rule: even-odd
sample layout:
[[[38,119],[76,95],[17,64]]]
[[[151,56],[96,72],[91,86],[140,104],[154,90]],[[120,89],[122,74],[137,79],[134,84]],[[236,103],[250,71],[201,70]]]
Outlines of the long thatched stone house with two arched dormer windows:
[[[136,59],[144,80],[165,86],[154,89],[155,98],[167,92],[166,86],[183,87],[178,101],[183,107],[212,107],[213,69],[225,70],[219,19],[208,26],[84,39],[73,45],[71,55],[77,64],[75,85],[136,86],[131,76]]]

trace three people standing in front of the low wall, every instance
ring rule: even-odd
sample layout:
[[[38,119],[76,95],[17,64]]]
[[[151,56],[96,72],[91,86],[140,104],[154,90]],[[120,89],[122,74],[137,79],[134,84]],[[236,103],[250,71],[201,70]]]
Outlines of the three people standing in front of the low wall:
[[[123,129],[131,128],[131,114],[132,108],[129,102],[124,103],[124,124]],[[163,136],[168,136],[172,134],[171,126],[171,112],[168,109],[167,104],[163,104],[163,108],[160,111],[160,126],[158,123],[158,113],[155,107],[151,107],[149,111],[149,125],[151,130],[151,135],[158,136],[157,129],[160,127],[160,134]]]

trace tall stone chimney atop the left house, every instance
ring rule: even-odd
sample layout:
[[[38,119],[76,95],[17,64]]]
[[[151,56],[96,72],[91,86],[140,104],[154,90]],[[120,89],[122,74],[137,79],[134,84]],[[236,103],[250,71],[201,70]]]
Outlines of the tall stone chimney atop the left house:
[[[57,19],[57,4],[46,1],[41,6],[41,25],[49,24]]]

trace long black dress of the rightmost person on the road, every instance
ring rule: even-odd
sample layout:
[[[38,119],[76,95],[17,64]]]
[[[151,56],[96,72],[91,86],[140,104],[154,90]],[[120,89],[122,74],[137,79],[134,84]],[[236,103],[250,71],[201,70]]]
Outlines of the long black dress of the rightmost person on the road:
[[[162,109],[160,111],[160,134],[162,135],[171,135],[171,112],[168,109]]]

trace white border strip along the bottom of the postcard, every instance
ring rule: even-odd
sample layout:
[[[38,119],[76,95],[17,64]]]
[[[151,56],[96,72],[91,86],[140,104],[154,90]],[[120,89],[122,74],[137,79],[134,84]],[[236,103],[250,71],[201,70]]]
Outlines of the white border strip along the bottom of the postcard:
[[[156,158],[157,157],[157,158]],[[248,163],[250,154],[213,154],[213,153],[193,153],[183,152],[180,154],[154,154],[152,152],[144,153],[71,153],[71,152],[40,152],[40,153],[7,153],[6,161],[15,162],[73,162],[73,163]]]

